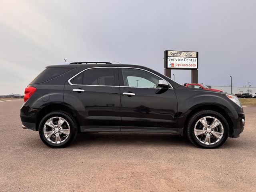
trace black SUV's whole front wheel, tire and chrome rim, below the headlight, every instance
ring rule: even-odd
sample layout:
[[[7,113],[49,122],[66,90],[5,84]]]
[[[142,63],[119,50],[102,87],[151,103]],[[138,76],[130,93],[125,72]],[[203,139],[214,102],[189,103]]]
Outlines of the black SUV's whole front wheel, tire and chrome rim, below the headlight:
[[[202,110],[188,120],[187,136],[195,146],[218,148],[226,142],[228,134],[228,122],[218,112]]]

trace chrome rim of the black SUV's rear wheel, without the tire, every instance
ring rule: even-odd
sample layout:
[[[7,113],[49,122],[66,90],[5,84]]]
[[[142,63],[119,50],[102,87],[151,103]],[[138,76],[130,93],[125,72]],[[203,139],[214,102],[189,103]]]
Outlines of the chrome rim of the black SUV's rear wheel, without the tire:
[[[62,117],[52,117],[44,124],[45,138],[54,144],[64,142],[70,134],[70,126]]]

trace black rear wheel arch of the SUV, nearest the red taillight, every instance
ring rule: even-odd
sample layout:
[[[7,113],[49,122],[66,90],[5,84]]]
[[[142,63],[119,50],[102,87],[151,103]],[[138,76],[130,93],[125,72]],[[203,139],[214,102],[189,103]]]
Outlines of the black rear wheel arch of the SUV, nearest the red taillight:
[[[70,114],[74,120],[76,121],[76,125],[78,127],[78,130],[80,130],[80,124],[79,124],[79,119],[78,119],[78,113],[76,112],[76,110],[72,109],[72,107],[67,106],[65,104],[49,104],[47,106],[44,106],[40,112],[38,112],[37,116],[36,116],[36,131],[39,130],[39,124],[42,120],[42,118],[44,118],[44,116],[50,112],[54,112],[54,111],[63,111],[66,112],[68,114]]]

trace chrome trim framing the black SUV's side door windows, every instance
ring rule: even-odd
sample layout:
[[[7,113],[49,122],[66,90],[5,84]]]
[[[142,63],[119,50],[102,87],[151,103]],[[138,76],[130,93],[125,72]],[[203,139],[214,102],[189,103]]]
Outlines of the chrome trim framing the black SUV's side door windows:
[[[146,70],[146,69],[137,68],[137,67],[114,67],[114,66],[113,66],[113,67],[90,67],[90,68],[84,69],[84,70],[78,72],[76,75],[72,76],[72,77],[68,80],[68,83],[69,83],[70,85],[76,85],[76,86],[131,87],[131,88],[159,89],[159,88],[157,88],[157,87],[132,87],[132,86],[83,85],[83,84],[81,85],[81,84],[72,84],[72,83],[70,82],[74,77],[78,76],[80,73],[82,73],[82,72],[84,72],[84,71],[86,71],[86,70],[95,69],[95,68],[128,68],[128,69],[138,69],[138,70],[142,70],[142,71],[149,72],[149,73],[151,73],[151,74],[153,74],[153,75],[155,75],[155,76],[161,78],[162,80],[165,80],[164,78],[162,78],[162,77],[158,76],[157,74],[154,74],[153,72],[148,71],[148,70]],[[166,81],[166,82],[170,85],[170,87],[171,87],[171,88],[168,88],[168,89],[173,89],[172,85],[171,85],[167,80],[165,80],[165,81]]]

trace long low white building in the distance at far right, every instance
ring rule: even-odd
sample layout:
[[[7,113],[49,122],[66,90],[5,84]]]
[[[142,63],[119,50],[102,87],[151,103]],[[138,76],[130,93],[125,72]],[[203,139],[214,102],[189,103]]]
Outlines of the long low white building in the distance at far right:
[[[213,86],[213,85],[207,85],[209,88],[212,89],[220,89],[222,90],[224,93],[231,93],[231,87],[230,86]],[[244,86],[244,87],[235,87],[232,86],[232,94],[236,94],[236,93],[248,93],[248,86]],[[256,87],[251,87],[249,88],[249,93],[250,94],[256,94]]]

